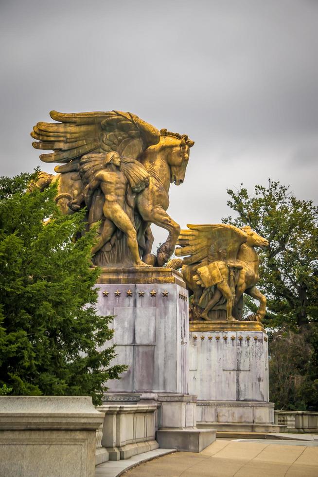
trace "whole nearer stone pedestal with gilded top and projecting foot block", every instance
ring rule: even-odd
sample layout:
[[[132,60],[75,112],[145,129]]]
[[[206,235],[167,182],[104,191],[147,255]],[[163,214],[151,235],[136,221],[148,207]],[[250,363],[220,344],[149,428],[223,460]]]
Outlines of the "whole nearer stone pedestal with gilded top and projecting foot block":
[[[113,282],[116,276],[120,283]],[[99,314],[114,316],[114,336],[106,346],[116,344],[114,364],[129,366],[122,379],[107,383],[105,401],[156,404],[159,446],[169,442],[173,448],[198,452],[202,442],[215,439],[215,433],[195,427],[196,396],[188,390],[188,292],[182,275],[169,268],[121,273],[106,269],[99,281]],[[192,441],[186,437],[189,431]],[[200,438],[203,435],[205,439]]]

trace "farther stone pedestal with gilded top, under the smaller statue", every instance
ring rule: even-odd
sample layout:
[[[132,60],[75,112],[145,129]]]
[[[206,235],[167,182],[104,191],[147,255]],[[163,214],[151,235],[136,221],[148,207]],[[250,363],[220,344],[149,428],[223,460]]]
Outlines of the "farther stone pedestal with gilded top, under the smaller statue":
[[[268,402],[267,336],[258,322],[191,322],[189,392],[198,427],[279,432]]]

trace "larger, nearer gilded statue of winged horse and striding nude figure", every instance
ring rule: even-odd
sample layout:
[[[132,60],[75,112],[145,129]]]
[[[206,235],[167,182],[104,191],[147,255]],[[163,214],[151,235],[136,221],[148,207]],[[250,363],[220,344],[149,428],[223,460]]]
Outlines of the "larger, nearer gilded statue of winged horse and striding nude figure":
[[[162,266],[174,251],[180,227],[166,212],[171,183],[183,183],[188,136],[154,128],[129,112],[50,113],[32,137],[55,167],[56,203],[64,214],[87,207],[87,226],[101,222],[93,263],[101,266]],[[115,153],[115,154],[114,154]],[[157,256],[151,253],[155,223],[168,231]],[[142,261],[141,261],[142,260]]]

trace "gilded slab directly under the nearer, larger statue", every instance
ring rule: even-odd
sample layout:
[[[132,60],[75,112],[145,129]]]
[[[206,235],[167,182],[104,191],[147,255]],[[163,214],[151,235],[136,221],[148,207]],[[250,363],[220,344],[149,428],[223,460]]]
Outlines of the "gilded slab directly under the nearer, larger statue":
[[[182,275],[167,267],[102,267],[97,283],[101,284],[155,284],[174,283],[185,288]]]

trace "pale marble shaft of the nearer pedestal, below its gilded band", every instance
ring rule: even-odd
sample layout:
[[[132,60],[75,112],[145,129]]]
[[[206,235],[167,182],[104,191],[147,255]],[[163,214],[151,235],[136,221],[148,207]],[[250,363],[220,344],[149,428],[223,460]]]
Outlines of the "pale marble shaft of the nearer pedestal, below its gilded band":
[[[129,366],[122,379],[108,383],[109,391],[187,393],[187,291],[176,283],[98,287],[99,313],[115,315],[110,325],[118,354],[114,364]]]

